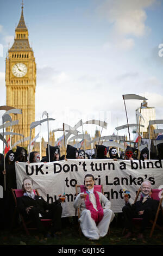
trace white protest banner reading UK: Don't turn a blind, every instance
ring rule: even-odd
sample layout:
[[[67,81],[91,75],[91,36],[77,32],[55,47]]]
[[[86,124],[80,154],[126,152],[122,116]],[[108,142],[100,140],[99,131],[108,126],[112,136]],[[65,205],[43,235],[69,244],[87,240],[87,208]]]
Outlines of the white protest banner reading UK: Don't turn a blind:
[[[75,186],[83,185],[86,174],[93,174],[96,185],[103,185],[111,210],[122,212],[124,191],[130,192],[130,203],[133,203],[143,181],[150,181],[153,188],[163,186],[162,164],[163,160],[74,159],[48,163],[18,162],[15,167],[17,188],[22,187],[24,177],[30,177],[33,187],[48,203],[65,193],[62,217],[68,217],[75,215]]]

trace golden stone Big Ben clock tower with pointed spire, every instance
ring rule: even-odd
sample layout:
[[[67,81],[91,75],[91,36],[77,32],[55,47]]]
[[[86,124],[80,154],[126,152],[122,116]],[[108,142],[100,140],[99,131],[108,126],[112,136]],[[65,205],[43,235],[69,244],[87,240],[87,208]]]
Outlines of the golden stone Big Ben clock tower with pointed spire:
[[[20,21],[15,29],[14,44],[8,50],[6,58],[5,83],[6,105],[22,109],[22,114],[12,115],[12,120],[19,120],[18,126],[12,126],[14,132],[28,137],[30,124],[35,121],[36,63],[34,52],[29,45],[23,3]],[[20,136],[14,136],[12,145],[18,140]],[[28,144],[29,141],[24,142],[22,146],[27,147]]]

